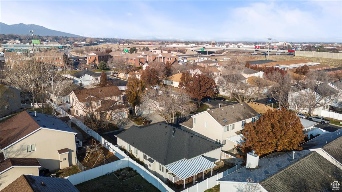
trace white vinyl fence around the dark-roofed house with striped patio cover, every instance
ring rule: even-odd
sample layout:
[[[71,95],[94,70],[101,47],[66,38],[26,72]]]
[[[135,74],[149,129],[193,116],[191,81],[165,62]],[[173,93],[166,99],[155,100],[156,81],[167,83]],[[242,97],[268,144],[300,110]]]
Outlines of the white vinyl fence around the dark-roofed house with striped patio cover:
[[[144,166],[138,164],[134,160],[132,160],[128,155],[126,155],[123,151],[117,148],[115,145],[108,142],[106,139],[98,135],[95,131],[84,125],[80,120],[76,119],[73,115],[65,112],[61,107],[56,107],[56,111],[65,116],[69,116],[71,122],[75,123],[78,127],[80,127],[84,132],[88,133],[90,136],[94,137],[96,140],[100,141],[101,144],[112,152],[115,156],[117,156],[120,160],[114,161],[99,167],[95,167],[92,169],[88,169],[86,171],[65,177],[68,179],[73,185],[100,177],[102,175],[106,175],[108,172],[114,172],[120,168],[131,167],[133,170],[136,170],[144,179],[146,179],[149,183],[153,184],[156,188],[158,188],[161,192],[172,192],[173,190],[167,186],[163,181],[161,181],[158,177],[150,173]],[[221,179],[222,177],[233,173],[237,169],[240,169],[242,166],[236,165],[222,173],[219,173],[213,177],[207,178],[204,181],[197,183],[196,185],[187,188],[183,192],[194,191],[194,192],[203,192],[207,189],[210,189],[218,184],[216,180]]]

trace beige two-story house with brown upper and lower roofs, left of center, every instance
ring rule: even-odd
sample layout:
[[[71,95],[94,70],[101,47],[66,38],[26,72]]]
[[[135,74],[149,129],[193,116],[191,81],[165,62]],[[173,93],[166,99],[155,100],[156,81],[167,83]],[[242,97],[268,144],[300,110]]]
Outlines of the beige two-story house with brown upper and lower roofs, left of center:
[[[69,94],[71,113],[76,116],[108,112],[108,119],[128,118],[129,108],[123,104],[123,93],[117,86],[74,90]]]

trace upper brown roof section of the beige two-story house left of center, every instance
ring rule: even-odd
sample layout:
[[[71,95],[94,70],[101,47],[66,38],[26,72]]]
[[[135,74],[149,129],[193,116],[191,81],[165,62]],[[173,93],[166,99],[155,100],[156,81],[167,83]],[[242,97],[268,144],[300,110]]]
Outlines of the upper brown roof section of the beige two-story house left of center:
[[[102,100],[106,97],[114,97],[122,95],[117,86],[96,87],[91,89],[82,89],[73,91],[80,102],[89,102]]]

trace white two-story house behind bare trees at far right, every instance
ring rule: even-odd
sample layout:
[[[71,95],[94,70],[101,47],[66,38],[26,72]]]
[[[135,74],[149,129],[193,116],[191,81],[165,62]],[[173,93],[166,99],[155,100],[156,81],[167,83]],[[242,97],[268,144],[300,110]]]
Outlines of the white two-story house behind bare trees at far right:
[[[321,87],[320,87],[321,86]],[[324,88],[322,88],[324,86]],[[322,115],[322,111],[329,111],[330,106],[334,106],[335,100],[340,98],[340,93],[329,85],[317,85],[313,89],[306,88],[299,90],[292,87],[288,94],[288,103],[290,109],[296,109],[297,102],[301,102],[301,98],[307,100],[312,105],[317,104],[313,111],[311,109],[305,108],[300,112]],[[324,106],[322,106],[324,104]]]

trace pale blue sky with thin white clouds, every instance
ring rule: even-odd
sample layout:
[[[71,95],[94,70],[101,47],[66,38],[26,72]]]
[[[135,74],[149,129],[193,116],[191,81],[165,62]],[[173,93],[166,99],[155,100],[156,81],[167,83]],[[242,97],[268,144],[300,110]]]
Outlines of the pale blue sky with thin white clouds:
[[[0,21],[96,38],[342,42],[342,1],[1,0]]]

